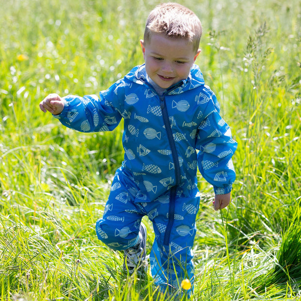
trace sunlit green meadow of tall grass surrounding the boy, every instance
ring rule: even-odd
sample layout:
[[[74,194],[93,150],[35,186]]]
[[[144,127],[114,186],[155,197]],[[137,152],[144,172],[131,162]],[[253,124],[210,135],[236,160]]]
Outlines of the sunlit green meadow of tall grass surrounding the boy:
[[[233,201],[199,175],[194,300],[301,300],[301,3],[179,0],[203,25],[201,67],[232,128]],[[158,0],[0,0],[0,301],[176,300],[122,273],[96,237],[122,124],[84,134],[38,104],[98,94],[143,63]],[[148,228],[148,251],[153,232]]]

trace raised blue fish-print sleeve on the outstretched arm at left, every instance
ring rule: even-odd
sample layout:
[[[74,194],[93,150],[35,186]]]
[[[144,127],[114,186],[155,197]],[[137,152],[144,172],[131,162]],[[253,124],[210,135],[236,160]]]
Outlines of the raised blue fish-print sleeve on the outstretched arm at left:
[[[108,90],[100,91],[99,97],[96,95],[65,96],[64,110],[54,117],[68,128],[80,132],[112,131],[122,118],[120,114],[122,93],[119,93],[121,89],[118,90],[118,94],[116,93],[117,86],[116,83]]]

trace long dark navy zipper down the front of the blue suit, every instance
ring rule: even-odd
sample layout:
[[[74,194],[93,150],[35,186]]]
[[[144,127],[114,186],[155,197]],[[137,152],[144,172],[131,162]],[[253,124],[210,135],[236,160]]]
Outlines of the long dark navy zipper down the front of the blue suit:
[[[175,179],[176,179],[175,185],[172,186],[170,189],[168,223],[166,226],[166,230],[165,230],[165,234],[164,234],[164,241],[163,241],[163,244],[167,246],[169,244],[170,233],[171,233],[171,230],[173,227],[173,222],[174,222],[177,185],[180,184],[181,177],[180,177],[180,164],[179,164],[176,144],[175,144],[175,141],[174,141],[174,138],[172,135],[164,96],[160,96],[160,107],[161,107],[161,111],[162,111],[162,116],[163,116],[163,121],[164,121],[164,125],[165,125],[165,130],[167,133],[168,142],[170,145],[171,155],[172,155],[172,159],[173,159],[173,163],[174,163],[174,167],[175,167]]]

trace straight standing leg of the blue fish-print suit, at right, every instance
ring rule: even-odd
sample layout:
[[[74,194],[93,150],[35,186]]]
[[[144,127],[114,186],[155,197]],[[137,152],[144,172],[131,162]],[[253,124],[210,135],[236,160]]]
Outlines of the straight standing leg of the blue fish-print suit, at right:
[[[163,200],[164,198],[161,198],[161,201]],[[166,200],[165,196],[165,202]],[[176,197],[175,215],[167,242],[165,233],[168,224],[168,206],[167,203],[158,202],[159,214],[152,220],[155,241],[150,261],[152,276],[156,284],[162,286],[163,289],[178,290],[182,280],[189,279],[191,283],[194,281],[191,248],[196,234],[195,220],[199,203],[199,197]]]

